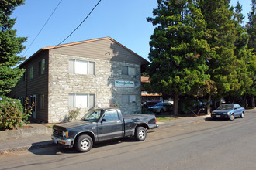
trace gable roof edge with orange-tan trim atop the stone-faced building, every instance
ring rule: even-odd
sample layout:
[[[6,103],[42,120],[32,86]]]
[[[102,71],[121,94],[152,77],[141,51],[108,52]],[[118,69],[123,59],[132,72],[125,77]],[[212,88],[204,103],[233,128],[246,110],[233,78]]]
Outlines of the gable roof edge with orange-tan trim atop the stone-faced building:
[[[120,44],[119,42],[117,42],[116,40],[112,39],[111,37],[103,37],[103,38],[99,38],[99,39],[89,39],[89,40],[85,40],[85,41],[80,41],[80,42],[71,42],[71,43],[67,43],[67,44],[62,44],[62,45],[58,45],[58,46],[47,46],[47,47],[43,47],[41,49],[39,49],[36,53],[34,53],[32,56],[30,56],[28,59],[26,59],[26,61],[30,60],[33,58],[33,56],[36,56],[36,54],[41,53],[44,50],[48,50],[48,49],[58,49],[61,47],[65,47],[65,46],[74,46],[74,45],[78,45],[81,43],[87,43],[87,42],[96,42],[96,41],[100,41],[100,40],[105,40],[105,39],[109,39],[112,42],[115,42],[116,44],[118,44],[119,46],[122,46],[124,49],[126,49],[127,51],[129,51],[130,53],[133,53],[135,56],[139,57],[143,63],[146,63],[145,65],[150,64],[146,59],[144,59],[143,57],[139,56],[137,53],[134,53],[132,50],[126,48],[126,46],[123,46],[122,44]],[[22,66],[23,64],[26,63],[23,62],[22,64],[20,64],[20,66]]]

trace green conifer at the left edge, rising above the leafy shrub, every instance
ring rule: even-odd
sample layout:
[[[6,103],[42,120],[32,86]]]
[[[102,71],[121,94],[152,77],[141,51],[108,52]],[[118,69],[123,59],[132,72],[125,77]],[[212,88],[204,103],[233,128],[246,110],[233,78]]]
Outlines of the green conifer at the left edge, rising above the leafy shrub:
[[[13,10],[22,5],[24,0],[0,1],[0,95],[9,93],[22,76],[24,70],[16,67],[25,58],[18,54],[25,48],[24,37],[16,37],[12,29],[16,19],[11,19]]]

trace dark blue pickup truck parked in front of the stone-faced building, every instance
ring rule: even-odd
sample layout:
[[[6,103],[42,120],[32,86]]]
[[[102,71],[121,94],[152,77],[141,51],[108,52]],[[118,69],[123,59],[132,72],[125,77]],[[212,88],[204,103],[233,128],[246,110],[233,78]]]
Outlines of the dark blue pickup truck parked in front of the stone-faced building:
[[[147,130],[154,128],[158,128],[154,115],[122,115],[119,109],[102,108],[89,110],[81,121],[54,125],[51,138],[56,144],[86,152],[99,141],[127,136],[144,141]]]

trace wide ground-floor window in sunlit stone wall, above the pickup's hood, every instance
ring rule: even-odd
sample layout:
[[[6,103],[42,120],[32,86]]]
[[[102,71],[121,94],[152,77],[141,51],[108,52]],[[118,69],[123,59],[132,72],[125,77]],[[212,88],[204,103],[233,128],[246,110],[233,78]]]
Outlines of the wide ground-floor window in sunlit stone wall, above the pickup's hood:
[[[68,106],[74,107],[95,107],[95,94],[68,94]]]

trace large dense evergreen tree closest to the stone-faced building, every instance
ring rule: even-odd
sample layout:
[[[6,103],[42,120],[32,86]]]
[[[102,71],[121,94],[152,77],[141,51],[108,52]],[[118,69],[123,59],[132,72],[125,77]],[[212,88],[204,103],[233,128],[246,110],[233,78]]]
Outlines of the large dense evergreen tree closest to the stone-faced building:
[[[202,95],[209,81],[206,59],[210,49],[206,42],[206,22],[195,1],[158,0],[155,26],[150,37],[150,84],[147,90],[174,97],[174,114],[178,114],[178,97]]]

